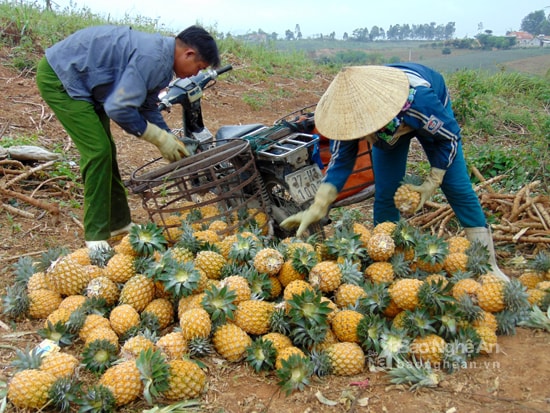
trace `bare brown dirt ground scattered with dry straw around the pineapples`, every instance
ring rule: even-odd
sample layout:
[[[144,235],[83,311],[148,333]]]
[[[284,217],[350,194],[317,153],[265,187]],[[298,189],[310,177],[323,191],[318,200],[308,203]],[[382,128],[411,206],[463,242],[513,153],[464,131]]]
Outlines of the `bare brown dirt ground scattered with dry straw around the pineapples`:
[[[5,61],[0,55],[0,63]],[[239,68],[235,68],[239,70]],[[230,79],[230,77],[227,77]],[[219,79],[205,92],[203,116],[211,132],[224,124],[271,124],[281,116],[315,103],[329,79],[317,77],[310,81],[270,78],[268,82],[243,84]],[[77,171],[78,155],[67,134],[40,99],[34,79],[0,64],[0,137],[37,135],[46,148],[62,147]],[[264,109],[253,110],[242,96],[258,93],[267,102]],[[282,92],[283,93],[279,93]],[[285,98],[280,98],[285,96]],[[167,115],[176,127],[180,112]],[[156,149],[141,143],[113,125],[119,151],[122,174],[130,174],[145,162],[158,157]],[[12,177],[0,166],[0,183]],[[33,179],[36,179],[33,178]],[[40,184],[29,182],[37,188]],[[52,189],[53,188],[53,189]],[[54,194],[55,195],[52,195]],[[33,198],[53,205],[52,197],[61,199],[60,213],[54,215],[44,208],[2,195],[1,201],[32,214],[24,217],[0,209],[0,293],[12,282],[11,265],[24,255],[38,256],[52,246],[67,246],[71,250],[83,246],[82,211],[80,201],[62,178],[42,186]],[[147,216],[137,196],[130,196],[134,220],[145,222]],[[369,210],[371,201],[361,208]],[[515,268],[502,267],[514,273]],[[0,315],[0,379],[12,374],[9,361],[15,348],[34,346],[41,339],[36,334],[40,323],[26,321],[14,324]],[[383,372],[365,371],[356,377],[329,377],[313,380],[304,391],[285,397],[279,391],[273,374],[256,374],[244,364],[230,364],[221,359],[205,361],[208,369],[208,392],[203,397],[205,412],[550,412],[550,335],[529,329],[518,329],[514,336],[499,337],[499,352],[475,359],[467,368],[451,375],[442,375],[435,388],[410,392],[392,385]],[[84,374],[84,373],[82,373]],[[321,402],[324,396],[334,402]],[[121,409],[137,412],[147,409],[145,403],[135,403]],[[10,410],[11,409],[11,410]],[[8,404],[7,411],[16,411]]]

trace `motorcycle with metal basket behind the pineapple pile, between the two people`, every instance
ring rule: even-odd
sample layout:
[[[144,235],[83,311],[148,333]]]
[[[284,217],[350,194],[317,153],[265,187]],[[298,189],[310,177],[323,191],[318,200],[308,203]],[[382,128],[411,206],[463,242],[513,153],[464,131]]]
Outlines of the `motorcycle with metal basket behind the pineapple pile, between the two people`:
[[[144,172],[143,167],[139,168],[132,174],[129,186],[134,193],[142,195],[144,206],[149,211],[154,210],[154,213],[158,213],[163,208],[166,211],[175,211],[177,208],[174,207],[173,201],[164,202],[160,208],[158,205],[151,207],[147,204],[153,198],[150,193],[147,194],[147,190],[156,185],[152,182],[159,181],[159,178],[166,182],[166,175],[171,174],[171,179],[176,177],[180,180],[178,184],[180,190],[189,192],[190,182],[195,187],[210,188],[212,181],[219,180],[220,176],[233,176],[238,170],[240,180],[231,184],[226,182],[223,189],[217,189],[218,196],[225,192],[233,193],[235,198],[235,188],[231,186],[239,187],[240,192],[238,191],[237,194],[239,196],[236,198],[259,194],[256,201],[271,218],[274,235],[280,238],[291,236],[294,231],[285,230],[280,223],[290,215],[303,211],[312,203],[330,159],[328,140],[315,129],[315,105],[283,116],[270,126],[260,123],[224,125],[213,135],[204,124],[201,99],[204,90],[213,86],[219,75],[230,70],[232,66],[227,65],[219,69],[203,70],[188,78],[175,79],[167,90],[159,95],[159,111],[170,111],[174,105],[181,105],[182,127],[173,129],[172,132],[186,146],[196,148],[195,155],[182,160],[185,164],[183,166],[176,162],[149,172]],[[246,144],[250,149],[254,170],[244,170],[243,165],[247,160],[242,159],[242,156],[233,156],[234,151],[231,148],[239,144]],[[358,162],[350,177],[349,185],[346,184],[339,198],[332,205],[333,208],[363,201],[374,194],[370,147],[366,142],[365,145],[360,148]],[[229,150],[226,155],[230,159],[221,160],[218,156],[224,149]],[[207,158],[211,164],[216,165],[217,171],[215,175],[200,176],[200,173],[192,170],[191,164],[194,160],[200,164]],[[198,170],[202,170],[197,162],[194,162],[195,166]],[[174,170],[178,168],[180,168],[179,173],[174,175]],[[186,171],[184,173],[187,173],[186,179],[189,181],[181,182],[184,170]],[[255,174],[255,171],[259,179],[251,180],[250,177]],[[353,178],[356,178],[355,182]],[[248,183],[243,184],[242,180]],[[197,198],[196,193],[191,195]],[[189,198],[191,195],[186,197]],[[241,202],[240,205],[242,206],[243,203]],[[228,207],[234,207],[234,205]],[[310,225],[309,234],[323,236],[323,228],[328,223],[327,219]]]

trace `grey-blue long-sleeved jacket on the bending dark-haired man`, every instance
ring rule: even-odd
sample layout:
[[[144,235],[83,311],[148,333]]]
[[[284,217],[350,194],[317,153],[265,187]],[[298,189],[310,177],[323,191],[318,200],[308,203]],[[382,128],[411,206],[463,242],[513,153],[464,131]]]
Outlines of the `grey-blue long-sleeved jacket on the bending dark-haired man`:
[[[175,38],[129,27],[79,30],[46,50],[73,99],[93,103],[125,131],[141,136],[146,121],[168,130],[157,109],[173,78]]]

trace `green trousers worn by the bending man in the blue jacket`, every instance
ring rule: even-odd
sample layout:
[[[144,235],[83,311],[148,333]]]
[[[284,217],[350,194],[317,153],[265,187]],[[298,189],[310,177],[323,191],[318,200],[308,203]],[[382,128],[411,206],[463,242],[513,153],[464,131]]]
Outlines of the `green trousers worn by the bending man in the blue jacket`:
[[[38,63],[38,90],[80,153],[84,183],[84,238],[107,240],[111,231],[131,221],[126,188],[116,159],[110,119],[84,100],[75,100],[65,91],[46,58]]]

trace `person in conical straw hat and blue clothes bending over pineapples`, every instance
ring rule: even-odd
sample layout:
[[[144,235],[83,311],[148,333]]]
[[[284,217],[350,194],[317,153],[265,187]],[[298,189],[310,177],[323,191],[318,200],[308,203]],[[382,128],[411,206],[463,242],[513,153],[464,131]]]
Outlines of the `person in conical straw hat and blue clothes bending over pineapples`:
[[[431,166],[422,185],[413,187],[421,194],[417,211],[441,187],[467,238],[487,246],[492,272],[508,279],[496,263],[491,232],[470,182],[460,127],[440,73],[415,63],[344,68],[319,100],[315,125],[330,139],[331,160],[313,204],[284,220],[284,228],[298,227],[300,236],[327,215],[353,171],[360,139],[372,145],[374,224],[398,221],[393,196],[405,176],[411,139],[416,137]]]

